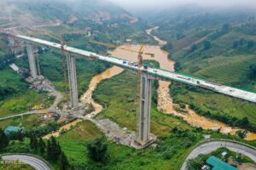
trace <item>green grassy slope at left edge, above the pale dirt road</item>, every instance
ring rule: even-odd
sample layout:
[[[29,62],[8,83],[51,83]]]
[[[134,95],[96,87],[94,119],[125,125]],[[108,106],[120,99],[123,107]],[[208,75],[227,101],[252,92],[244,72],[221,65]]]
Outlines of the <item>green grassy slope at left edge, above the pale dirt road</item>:
[[[0,117],[32,110],[34,105],[51,105],[48,94],[29,89],[29,85],[9,67],[0,71],[0,88],[11,88],[12,94],[0,96]]]

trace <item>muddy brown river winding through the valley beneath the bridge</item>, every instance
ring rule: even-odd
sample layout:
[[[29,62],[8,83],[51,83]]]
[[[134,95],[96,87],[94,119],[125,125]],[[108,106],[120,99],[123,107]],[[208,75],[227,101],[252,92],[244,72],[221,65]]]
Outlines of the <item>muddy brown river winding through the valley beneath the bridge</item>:
[[[146,32],[148,35],[151,35],[151,31],[158,29],[158,27],[151,28],[147,30]],[[152,35],[151,35],[152,36]],[[160,68],[168,70],[168,71],[174,71],[174,61],[172,59],[168,59],[168,53],[161,49],[163,45],[166,44],[166,42],[160,40],[160,38],[154,37],[156,41],[159,42],[159,46],[148,46],[146,45],[144,48],[144,51],[147,53],[153,53],[154,58],[149,57],[148,55],[144,55],[143,59],[154,59],[160,63]],[[127,48],[131,49],[133,51],[138,51],[140,48],[140,45],[134,45],[134,44],[125,44],[122,45],[121,48]],[[115,57],[119,57],[121,59],[127,59],[131,61],[137,61],[137,54],[132,53],[129,51],[122,50],[120,48],[116,48],[113,51],[109,51],[109,54],[112,54]],[[93,91],[96,89],[96,86],[99,82],[101,82],[103,79],[107,79],[113,76],[118,75],[121,73],[123,69],[113,66],[109,68],[106,71],[103,71],[101,74],[96,75],[96,77],[93,77],[89,89],[84,93],[84,95],[81,97],[81,102],[84,104],[92,104],[95,107],[95,111],[87,115],[87,117],[95,116],[97,113],[102,111],[102,105],[97,104],[92,99]],[[173,114],[176,116],[181,116],[186,122],[189,122],[189,124],[195,126],[195,127],[202,127],[203,129],[218,129],[220,128],[220,132],[222,133],[230,133],[235,134],[237,130],[232,127],[228,127],[223,122],[217,122],[207,119],[204,116],[197,115],[195,111],[190,110],[188,107],[186,108],[187,113],[180,113],[173,109],[174,106],[172,104],[172,98],[170,96],[169,92],[169,85],[170,82],[159,82],[159,88],[158,88],[158,110],[162,111],[166,114]],[[256,139],[256,133],[247,133],[247,139],[253,140]]]

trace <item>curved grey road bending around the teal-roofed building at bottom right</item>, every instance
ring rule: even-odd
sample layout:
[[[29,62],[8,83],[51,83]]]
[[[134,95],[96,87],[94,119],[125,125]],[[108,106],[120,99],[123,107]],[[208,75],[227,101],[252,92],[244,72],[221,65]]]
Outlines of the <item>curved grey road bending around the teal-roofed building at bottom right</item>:
[[[226,147],[229,150],[233,150],[243,154],[244,156],[250,157],[253,161],[256,161],[256,149],[250,148],[243,144],[237,144],[235,142],[228,142],[228,141],[212,141],[208,143],[204,143],[196,147],[192,150],[186,160],[183,162],[183,166],[181,170],[186,170],[187,161],[189,159],[193,159],[200,154],[207,154],[214,150],[217,150],[220,147]]]

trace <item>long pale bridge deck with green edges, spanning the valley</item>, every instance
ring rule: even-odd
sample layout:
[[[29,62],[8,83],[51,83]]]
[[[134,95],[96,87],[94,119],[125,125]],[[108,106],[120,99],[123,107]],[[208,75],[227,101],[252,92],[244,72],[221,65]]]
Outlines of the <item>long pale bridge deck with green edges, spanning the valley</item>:
[[[59,48],[61,49],[61,44],[55,43],[55,42],[48,42],[45,40],[41,40],[34,37],[26,37],[21,35],[12,35],[15,37],[19,37],[23,40],[29,41],[29,42],[35,42],[41,45],[46,45],[52,48]],[[118,59],[111,56],[102,56],[96,53],[92,53],[89,51],[81,50],[78,48],[72,48],[68,47],[67,45],[64,46],[65,51],[73,53],[73,54],[79,54],[86,57],[95,57],[96,59],[106,61],[108,63],[112,63],[113,65],[119,65],[123,68],[127,68],[134,71],[143,71],[143,68],[138,68],[135,65],[128,65],[127,62],[124,63],[124,59]],[[176,82],[182,82],[189,85],[193,85],[200,88],[207,88],[209,90],[212,90],[214,92],[218,92],[219,94],[225,94],[229,95],[231,97],[244,99],[247,101],[251,101],[253,103],[256,103],[256,94],[252,92],[248,92],[246,90],[241,90],[238,88],[231,88],[228,86],[221,85],[219,83],[215,82],[207,82],[206,80],[202,80],[200,78],[195,77],[189,77],[185,76],[183,74],[178,74],[176,72],[172,71],[164,71],[161,69],[155,69],[155,68],[148,68],[147,70],[149,75],[152,75],[153,77],[156,77],[160,80],[166,80],[166,81],[176,81]]]

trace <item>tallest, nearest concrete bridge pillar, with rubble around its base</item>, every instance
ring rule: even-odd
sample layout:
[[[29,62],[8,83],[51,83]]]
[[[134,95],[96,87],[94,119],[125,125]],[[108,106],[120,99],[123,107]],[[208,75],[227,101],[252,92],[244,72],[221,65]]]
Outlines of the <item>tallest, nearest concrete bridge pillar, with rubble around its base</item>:
[[[151,108],[152,80],[148,74],[141,73],[140,112],[137,116],[137,142],[146,144],[150,134],[150,108]]]

